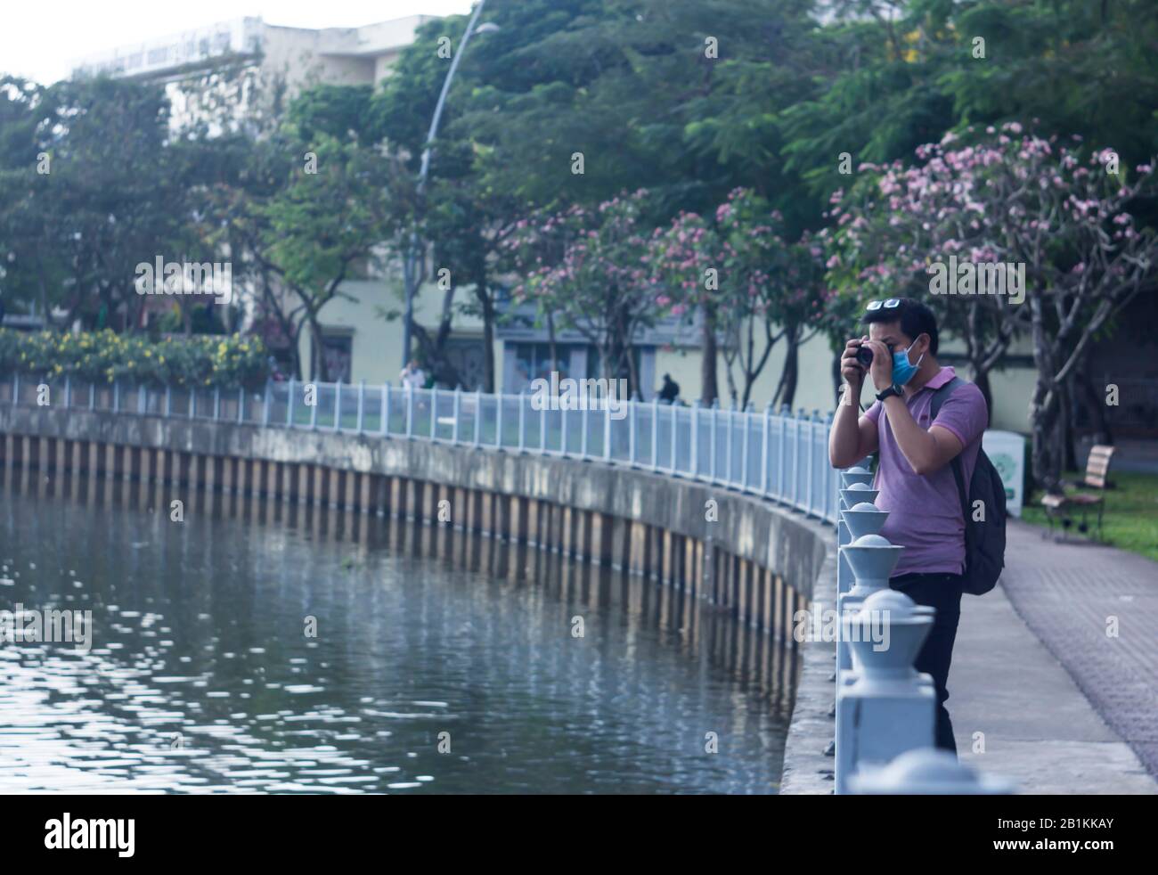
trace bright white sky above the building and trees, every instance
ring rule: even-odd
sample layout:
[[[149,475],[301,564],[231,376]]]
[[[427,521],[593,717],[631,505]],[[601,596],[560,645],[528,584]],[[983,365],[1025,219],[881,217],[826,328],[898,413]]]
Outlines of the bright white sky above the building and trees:
[[[0,74],[42,83],[64,79],[73,63],[125,43],[245,16],[299,28],[350,28],[405,15],[455,15],[471,0],[56,0],[5,3]]]

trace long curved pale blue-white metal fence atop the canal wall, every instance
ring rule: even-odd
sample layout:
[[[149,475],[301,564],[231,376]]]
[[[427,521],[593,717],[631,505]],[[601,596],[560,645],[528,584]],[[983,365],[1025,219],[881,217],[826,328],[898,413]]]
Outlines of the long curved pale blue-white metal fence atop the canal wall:
[[[332,382],[269,382],[259,392],[52,384],[14,375],[0,403],[110,410],[269,428],[438,440],[602,461],[757,495],[836,523],[838,472],[828,464],[831,416],[600,401],[538,409],[529,394]],[[45,389],[46,388],[46,393]]]

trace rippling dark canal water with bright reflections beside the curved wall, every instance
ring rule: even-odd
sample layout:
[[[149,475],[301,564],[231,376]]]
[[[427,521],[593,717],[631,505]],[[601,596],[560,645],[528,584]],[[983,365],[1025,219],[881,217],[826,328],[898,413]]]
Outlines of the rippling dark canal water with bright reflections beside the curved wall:
[[[776,792],[796,659],[725,612],[452,528],[141,491],[0,488],[0,611],[93,621],[87,652],[0,643],[2,793]]]

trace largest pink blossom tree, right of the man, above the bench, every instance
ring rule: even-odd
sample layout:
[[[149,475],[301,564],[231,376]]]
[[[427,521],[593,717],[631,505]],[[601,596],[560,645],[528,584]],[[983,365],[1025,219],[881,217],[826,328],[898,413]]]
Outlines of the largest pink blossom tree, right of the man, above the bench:
[[[1111,173],[1112,151],[1083,162],[1079,144],[1042,139],[1017,122],[969,129],[965,139],[948,133],[918,147],[914,167],[862,165],[852,189],[834,195],[835,225],[823,235],[840,291],[830,316],[845,318],[850,298],[862,306],[874,297],[922,298],[965,343],[987,399],[990,370],[1014,337],[1029,338],[1033,475],[1054,493],[1072,381],[1094,337],[1152,286],[1158,256],[1155,235],[1138,231],[1129,211],[1155,194],[1153,162]],[[938,289],[951,260],[957,275]],[[979,293],[996,264],[1024,268],[1024,297],[1010,286]]]

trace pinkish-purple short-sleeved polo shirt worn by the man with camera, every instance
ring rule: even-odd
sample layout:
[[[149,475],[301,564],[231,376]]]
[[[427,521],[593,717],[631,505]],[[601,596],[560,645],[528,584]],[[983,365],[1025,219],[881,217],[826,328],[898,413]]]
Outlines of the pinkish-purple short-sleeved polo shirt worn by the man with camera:
[[[989,410],[981,389],[972,382],[958,386],[941,403],[937,420],[929,422],[933,389],[953,379],[952,367],[943,367],[929,382],[906,401],[909,413],[923,429],[940,425],[965,447],[965,483],[968,488],[973,468],[977,464],[981,437],[985,431]],[[902,574],[961,574],[965,570],[965,519],[961,498],[953,477],[953,466],[924,476],[915,473],[893,437],[888,416],[881,416],[880,401],[865,413],[877,424],[880,457],[874,488],[880,490],[877,506],[887,510],[888,519],[880,533],[892,544],[904,547],[893,577]]]

